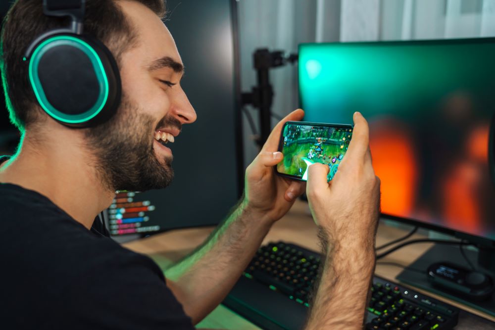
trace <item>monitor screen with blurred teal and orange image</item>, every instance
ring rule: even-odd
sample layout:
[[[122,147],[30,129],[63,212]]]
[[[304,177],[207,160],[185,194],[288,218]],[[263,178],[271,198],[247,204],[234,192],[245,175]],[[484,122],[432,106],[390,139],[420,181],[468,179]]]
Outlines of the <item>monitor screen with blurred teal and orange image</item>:
[[[495,38],[303,44],[305,120],[369,121],[382,212],[495,239]]]

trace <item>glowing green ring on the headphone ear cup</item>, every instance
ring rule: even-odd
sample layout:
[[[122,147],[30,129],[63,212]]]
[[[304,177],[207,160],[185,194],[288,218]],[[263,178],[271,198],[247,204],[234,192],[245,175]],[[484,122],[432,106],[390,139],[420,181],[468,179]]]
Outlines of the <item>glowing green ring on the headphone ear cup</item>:
[[[77,115],[68,115],[61,111],[58,111],[54,108],[49,100],[47,99],[47,95],[43,90],[43,86],[40,81],[40,77],[38,75],[38,67],[40,64],[40,59],[43,55],[51,48],[57,46],[72,46],[76,47],[86,53],[93,64],[93,68],[95,69],[95,73],[99,82],[99,96],[98,100],[95,102],[93,107],[86,112],[77,114]],[[34,94],[38,99],[41,107],[53,118],[59,120],[64,123],[70,124],[79,124],[90,119],[94,118],[99,114],[101,109],[103,109],[106,100],[108,99],[108,78],[106,76],[105,69],[101,60],[99,58],[98,53],[91,47],[88,43],[82,41],[81,39],[71,37],[71,36],[56,36],[45,40],[41,43],[33,52],[33,56],[31,56],[31,61],[29,62],[29,79],[31,81],[31,85],[33,86]]]

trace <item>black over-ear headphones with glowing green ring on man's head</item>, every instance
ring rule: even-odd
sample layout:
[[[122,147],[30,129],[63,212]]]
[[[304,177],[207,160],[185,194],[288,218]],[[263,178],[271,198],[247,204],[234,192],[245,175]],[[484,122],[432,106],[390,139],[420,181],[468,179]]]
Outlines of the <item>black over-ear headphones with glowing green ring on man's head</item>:
[[[46,16],[69,16],[68,28],[38,36],[27,48],[29,81],[41,108],[69,127],[96,126],[115,114],[122,86],[112,53],[83,34],[86,0],[43,0]]]

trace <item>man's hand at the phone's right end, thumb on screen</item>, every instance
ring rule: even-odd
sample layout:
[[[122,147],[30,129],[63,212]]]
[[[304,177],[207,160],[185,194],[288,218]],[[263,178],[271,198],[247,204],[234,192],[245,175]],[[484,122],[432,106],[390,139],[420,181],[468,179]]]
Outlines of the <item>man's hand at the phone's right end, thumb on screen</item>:
[[[368,123],[359,112],[353,120],[354,132],[339,171],[328,183],[329,167],[310,165],[306,194],[314,221],[332,242],[368,247],[370,241],[374,244],[380,215],[380,179],[371,164]]]

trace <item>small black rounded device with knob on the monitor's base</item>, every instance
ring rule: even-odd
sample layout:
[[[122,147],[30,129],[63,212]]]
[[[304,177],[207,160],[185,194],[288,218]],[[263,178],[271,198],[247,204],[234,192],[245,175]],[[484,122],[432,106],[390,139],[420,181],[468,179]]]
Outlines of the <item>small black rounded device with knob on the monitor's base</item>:
[[[493,279],[449,262],[438,262],[428,268],[428,280],[435,286],[473,300],[490,299],[494,292]]]

